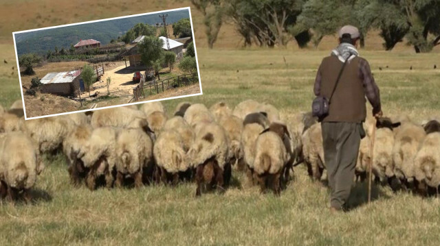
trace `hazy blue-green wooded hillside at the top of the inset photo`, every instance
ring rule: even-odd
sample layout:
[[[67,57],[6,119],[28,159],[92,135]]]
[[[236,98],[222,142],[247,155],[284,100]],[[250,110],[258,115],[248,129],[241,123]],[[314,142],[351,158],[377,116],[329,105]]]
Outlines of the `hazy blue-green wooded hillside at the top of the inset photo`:
[[[180,19],[189,17],[187,10],[164,12],[164,14],[168,14],[167,23],[175,23]],[[101,45],[107,45],[111,39],[122,36],[136,23],[154,25],[155,23],[162,23],[162,19],[159,18],[159,14],[146,14],[144,16],[15,34],[17,53],[20,56],[23,53],[30,52],[45,53],[49,49],[53,50],[54,47],[69,49],[70,45],[75,45],[80,39],[90,38],[100,41]]]

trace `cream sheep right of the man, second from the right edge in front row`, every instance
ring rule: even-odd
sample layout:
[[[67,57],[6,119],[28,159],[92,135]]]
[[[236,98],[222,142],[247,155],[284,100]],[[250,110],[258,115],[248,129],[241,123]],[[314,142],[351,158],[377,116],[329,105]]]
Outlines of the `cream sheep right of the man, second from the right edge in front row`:
[[[393,147],[394,174],[401,183],[409,186],[414,179],[414,157],[426,133],[423,127],[411,122],[404,122],[395,130]]]

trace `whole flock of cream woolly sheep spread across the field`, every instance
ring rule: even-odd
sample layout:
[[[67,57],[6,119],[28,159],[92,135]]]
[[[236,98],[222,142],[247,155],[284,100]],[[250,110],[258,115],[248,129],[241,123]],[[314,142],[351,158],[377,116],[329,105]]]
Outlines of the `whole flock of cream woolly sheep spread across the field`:
[[[373,173],[417,190],[440,185],[440,123],[410,119],[377,121]],[[364,123],[356,180],[369,166],[373,119]],[[207,108],[179,103],[168,119],[162,103],[109,108],[24,121],[21,101],[0,107],[0,195],[31,199],[28,190],[45,164],[42,154],[62,150],[72,184],[120,187],[195,181],[196,195],[228,188],[232,169],[246,173],[248,185],[276,195],[294,167],[304,163],[320,180],[325,170],[320,124],[310,113],[282,121],[267,103],[246,100],[233,110],[224,102]]]

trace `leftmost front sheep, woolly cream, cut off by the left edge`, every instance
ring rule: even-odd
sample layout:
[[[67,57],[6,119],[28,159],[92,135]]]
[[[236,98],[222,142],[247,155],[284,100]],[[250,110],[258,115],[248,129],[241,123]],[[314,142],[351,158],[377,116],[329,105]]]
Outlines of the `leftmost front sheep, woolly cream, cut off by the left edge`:
[[[14,199],[23,190],[23,197],[30,201],[28,190],[34,186],[36,175],[44,166],[32,139],[22,132],[0,134],[0,182],[1,195],[7,193]]]

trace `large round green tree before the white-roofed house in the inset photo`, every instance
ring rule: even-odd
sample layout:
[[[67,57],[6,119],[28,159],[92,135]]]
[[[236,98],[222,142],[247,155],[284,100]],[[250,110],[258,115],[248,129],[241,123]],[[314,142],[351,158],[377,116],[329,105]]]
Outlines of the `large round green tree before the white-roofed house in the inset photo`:
[[[142,42],[137,44],[142,62],[147,67],[153,67],[155,75],[159,75],[160,68],[153,65],[157,65],[159,61],[163,60],[163,45],[164,41],[155,36],[146,36]]]

